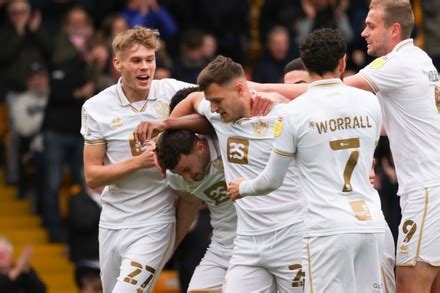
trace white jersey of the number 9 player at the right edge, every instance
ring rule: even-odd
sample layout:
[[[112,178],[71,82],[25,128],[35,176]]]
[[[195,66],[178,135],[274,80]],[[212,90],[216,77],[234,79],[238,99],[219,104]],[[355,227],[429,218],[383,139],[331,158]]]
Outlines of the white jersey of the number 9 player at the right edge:
[[[382,106],[399,194],[440,185],[440,82],[411,39],[360,71]]]

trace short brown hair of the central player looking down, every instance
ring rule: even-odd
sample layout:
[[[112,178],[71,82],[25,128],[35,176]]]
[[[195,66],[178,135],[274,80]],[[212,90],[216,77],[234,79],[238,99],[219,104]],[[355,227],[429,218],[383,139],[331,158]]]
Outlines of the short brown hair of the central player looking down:
[[[243,67],[231,58],[218,55],[209,62],[197,77],[200,90],[206,90],[211,84],[225,85],[234,78],[244,77]]]

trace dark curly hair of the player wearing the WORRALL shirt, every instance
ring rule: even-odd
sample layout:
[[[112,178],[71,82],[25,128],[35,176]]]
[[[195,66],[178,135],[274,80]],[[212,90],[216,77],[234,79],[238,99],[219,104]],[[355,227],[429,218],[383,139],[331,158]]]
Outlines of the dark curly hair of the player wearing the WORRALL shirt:
[[[306,36],[299,51],[307,71],[322,76],[336,69],[339,59],[347,51],[347,44],[339,31],[322,28]]]

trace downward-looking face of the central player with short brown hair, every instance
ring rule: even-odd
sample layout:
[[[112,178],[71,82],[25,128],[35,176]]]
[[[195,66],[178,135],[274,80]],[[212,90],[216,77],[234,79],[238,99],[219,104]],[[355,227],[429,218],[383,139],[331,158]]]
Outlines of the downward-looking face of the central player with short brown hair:
[[[211,84],[205,90],[205,98],[211,103],[211,112],[219,113],[224,122],[236,121],[244,116],[243,85],[230,83]]]

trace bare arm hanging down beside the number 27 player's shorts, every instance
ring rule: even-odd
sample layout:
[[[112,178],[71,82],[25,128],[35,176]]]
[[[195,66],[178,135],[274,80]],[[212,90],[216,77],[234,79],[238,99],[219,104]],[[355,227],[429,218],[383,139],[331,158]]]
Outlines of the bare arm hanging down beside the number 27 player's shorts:
[[[182,242],[186,233],[188,233],[192,223],[196,219],[202,200],[189,193],[175,191],[179,195],[179,201],[176,208],[176,249]]]

